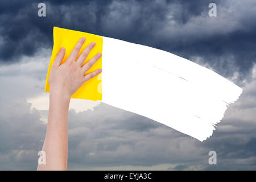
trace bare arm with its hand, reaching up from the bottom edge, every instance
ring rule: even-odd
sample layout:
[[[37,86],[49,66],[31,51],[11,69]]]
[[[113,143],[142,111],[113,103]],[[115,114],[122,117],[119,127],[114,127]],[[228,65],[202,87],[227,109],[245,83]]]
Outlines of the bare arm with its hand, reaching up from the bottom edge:
[[[38,170],[67,170],[68,108],[71,96],[82,84],[101,72],[101,69],[97,69],[86,74],[92,65],[100,59],[101,53],[97,53],[96,56],[81,66],[95,46],[94,42],[90,43],[77,58],[84,42],[85,38],[81,38],[63,64],[61,61],[65,56],[65,48],[61,48],[52,65],[49,74],[50,94],[47,132],[42,149],[46,152],[46,164],[38,164]]]

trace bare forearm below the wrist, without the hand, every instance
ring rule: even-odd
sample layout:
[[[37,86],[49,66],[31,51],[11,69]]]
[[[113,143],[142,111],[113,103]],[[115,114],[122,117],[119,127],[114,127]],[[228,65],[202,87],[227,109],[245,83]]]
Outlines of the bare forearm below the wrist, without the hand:
[[[68,94],[50,93],[47,133],[42,149],[46,152],[46,164],[38,165],[38,170],[67,170],[69,102]]]

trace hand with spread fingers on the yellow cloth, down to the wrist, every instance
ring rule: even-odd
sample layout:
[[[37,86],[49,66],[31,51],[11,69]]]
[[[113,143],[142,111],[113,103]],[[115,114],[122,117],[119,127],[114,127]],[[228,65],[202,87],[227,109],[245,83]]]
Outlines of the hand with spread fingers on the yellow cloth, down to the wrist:
[[[64,96],[70,98],[84,82],[101,72],[101,69],[97,69],[92,73],[84,75],[101,57],[101,53],[97,53],[96,56],[81,66],[89,52],[95,46],[94,42],[90,43],[76,60],[84,42],[85,38],[81,38],[63,64],[61,64],[61,61],[65,56],[65,48],[61,48],[59,53],[57,53],[51,72],[49,73],[50,93],[64,94]]]

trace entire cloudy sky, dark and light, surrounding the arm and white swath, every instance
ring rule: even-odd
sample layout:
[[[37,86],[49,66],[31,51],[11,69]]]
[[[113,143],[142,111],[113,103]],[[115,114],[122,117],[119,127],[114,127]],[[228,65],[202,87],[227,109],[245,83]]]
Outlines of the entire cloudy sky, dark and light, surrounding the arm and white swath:
[[[46,3],[46,17],[38,3]],[[100,102],[72,100],[68,169],[256,169],[256,2],[0,1],[0,169],[35,170],[46,134],[53,26],[175,53],[243,88],[200,142]],[[150,102],[150,101],[149,101]],[[209,165],[209,151],[217,165]]]

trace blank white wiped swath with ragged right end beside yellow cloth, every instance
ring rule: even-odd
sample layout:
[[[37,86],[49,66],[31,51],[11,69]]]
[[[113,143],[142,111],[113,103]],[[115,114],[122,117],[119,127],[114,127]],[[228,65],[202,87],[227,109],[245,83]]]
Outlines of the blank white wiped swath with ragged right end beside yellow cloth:
[[[200,141],[210,137],[242,89],[170,52],[103,37],[102,102]]]

